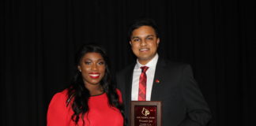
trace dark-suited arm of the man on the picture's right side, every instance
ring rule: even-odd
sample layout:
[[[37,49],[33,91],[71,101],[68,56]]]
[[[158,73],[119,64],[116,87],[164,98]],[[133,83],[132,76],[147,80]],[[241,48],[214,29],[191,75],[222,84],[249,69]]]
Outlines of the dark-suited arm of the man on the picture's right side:
[[[198,83],[194,80],[190,65],[183,68],[183,100],[186,104],[186,119],[179,126],[205,126],[211,119],[211,113]]]

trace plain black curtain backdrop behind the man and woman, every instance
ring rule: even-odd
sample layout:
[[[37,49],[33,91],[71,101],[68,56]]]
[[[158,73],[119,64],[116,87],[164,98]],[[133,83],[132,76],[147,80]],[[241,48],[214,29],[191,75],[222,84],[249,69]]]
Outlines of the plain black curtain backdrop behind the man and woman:
[[[255,7],[247,0],[2,0],[0,125],[45,125],[83,43],[104,46],[112,72],[134,61],[126,31],[141,17],[159,24],[161,57],[194,68],[211,126],[253,125]]]

